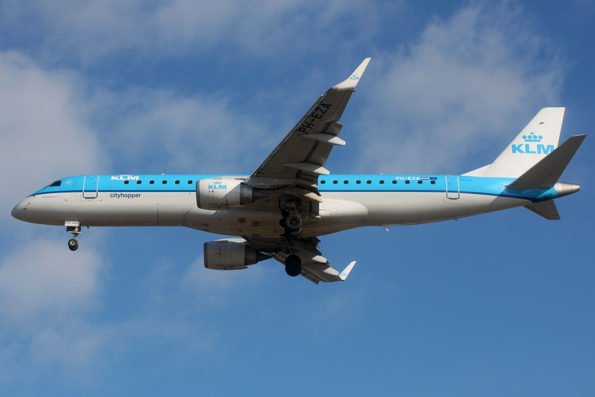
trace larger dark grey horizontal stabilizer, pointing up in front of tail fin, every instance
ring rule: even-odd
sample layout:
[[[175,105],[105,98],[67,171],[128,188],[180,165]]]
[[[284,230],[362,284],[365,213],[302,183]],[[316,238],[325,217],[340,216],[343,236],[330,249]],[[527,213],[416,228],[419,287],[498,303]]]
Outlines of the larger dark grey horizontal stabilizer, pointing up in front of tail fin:
[[[515,190],[553,187],[566,169],[566,165],[572,160],[579,146],[583,143],[585,136],[587,135],[569,137],[566,142],[562,143],[562,145],[558,146],[558,148],[554,149],[506,187]]]

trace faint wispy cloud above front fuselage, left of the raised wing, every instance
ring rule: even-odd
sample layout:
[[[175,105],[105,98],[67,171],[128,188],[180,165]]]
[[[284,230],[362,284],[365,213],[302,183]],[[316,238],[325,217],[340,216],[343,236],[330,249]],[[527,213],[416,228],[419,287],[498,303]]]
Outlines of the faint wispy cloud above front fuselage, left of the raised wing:
[[[92,106],[117,165],[142,167],[122,173],[250,173],[264,160],[258,149],[268,154],[281,139],[267,137],[262,120],[232,110],[225,98],[131,88],[99,94]]]

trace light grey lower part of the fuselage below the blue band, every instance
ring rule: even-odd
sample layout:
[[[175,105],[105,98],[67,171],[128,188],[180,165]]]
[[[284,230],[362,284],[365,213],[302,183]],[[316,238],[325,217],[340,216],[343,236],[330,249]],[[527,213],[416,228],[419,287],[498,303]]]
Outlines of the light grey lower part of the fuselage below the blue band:
[[[34,199],[41,223],[82,226],[186,226],[228,236],[278,237],[281,211],[202,210],[195,193],[100,192],[82,200],[82,193],[39,195]],[[320,217],[304,217],[302,237],[315,237],[361,226],[397,226],[462,218],[531,204],[504,196],[461,193],[456,200],[445,192],[325,192]],[[456,201],[456,204],[453,204]],[[33,210],[33,208],[32,208]]]

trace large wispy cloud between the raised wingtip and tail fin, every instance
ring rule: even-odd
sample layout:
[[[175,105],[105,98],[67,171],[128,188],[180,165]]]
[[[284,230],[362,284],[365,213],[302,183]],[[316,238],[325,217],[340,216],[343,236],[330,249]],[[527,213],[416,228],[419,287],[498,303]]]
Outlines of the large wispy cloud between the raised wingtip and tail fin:
[[[474,163],[488,164],[541,107],[560,106],[561,64],[527,26],[518,8],[472,4],[376,58],[359,169],[470,171],[459,164],[473,152],[489,152]]]

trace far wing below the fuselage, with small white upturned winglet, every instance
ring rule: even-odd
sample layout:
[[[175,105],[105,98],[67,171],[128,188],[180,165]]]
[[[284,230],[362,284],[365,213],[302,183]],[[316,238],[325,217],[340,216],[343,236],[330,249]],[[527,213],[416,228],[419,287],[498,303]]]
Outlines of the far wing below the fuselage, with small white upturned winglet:
[[[271,255],[272,258],[281,264],[285,264],[285,260],[289,254],[283,254],[283,252],[271,252],[281,251],[284,244],[283,239],[243,238],[246,240],[246,245],[252,246],[252,248],[258,249],[259,251],[268,251],[268,255]],[[318,242],[319,240],[316,238],[296,239],[293,242],[296,248],[295,254],[302,260],[302,276],[315,284],[320,282],[333,283],[336,281],[345,281],[355,265],[355,261],[347,265],[343,271],[337,271],[330,265],[330,263],[328,263],[326,258],[322,257],[321,252],[318,251]]]

